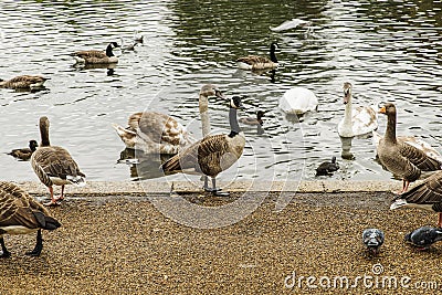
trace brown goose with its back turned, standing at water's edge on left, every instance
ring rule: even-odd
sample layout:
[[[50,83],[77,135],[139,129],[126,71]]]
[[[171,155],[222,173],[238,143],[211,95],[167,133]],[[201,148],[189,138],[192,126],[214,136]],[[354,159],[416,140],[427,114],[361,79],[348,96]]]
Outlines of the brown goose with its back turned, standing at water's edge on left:
[[[71,157],[69,151],[62,147],[51,146],[49,140],[49,119],[40,118],[40,147],[31,156],[31,165],[40,181],[49,188],[51,201],[45,206],[57,204],[63,200],[64,186],[74,183],[78,187],[86,185],[85,175],[80,171],[77,164]],[[60,197],[54,197],[52,186],[61,186]]]

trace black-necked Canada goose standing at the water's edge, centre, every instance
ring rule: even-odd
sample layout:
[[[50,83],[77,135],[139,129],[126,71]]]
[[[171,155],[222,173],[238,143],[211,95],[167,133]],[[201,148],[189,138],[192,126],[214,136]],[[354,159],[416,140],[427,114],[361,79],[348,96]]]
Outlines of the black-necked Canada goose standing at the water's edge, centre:
[[[230,168],[241,157],[245,145],[244,134],[241,131],[236,119],[236,109],[242,107],[241,97],[233,96],[230,101],[229,122],[231,131],[229,135],[209,135],[191,146],[180,150],[178,155],[161,165],[166,175],[169,173],[202,173],[212,178],[212,188],[209,188],[204,179],[204,190],[215,196],[225,197],[228,192],[221,192],[217,188],[217,176]]]

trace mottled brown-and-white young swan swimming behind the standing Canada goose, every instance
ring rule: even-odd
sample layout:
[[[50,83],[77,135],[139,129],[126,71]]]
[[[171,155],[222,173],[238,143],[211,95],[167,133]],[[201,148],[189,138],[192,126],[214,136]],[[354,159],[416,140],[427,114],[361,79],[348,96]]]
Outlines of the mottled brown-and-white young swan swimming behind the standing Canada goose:
[[[203,135],[210,133],[208,96],[222,97],[222,94],[211,84],[202,86],[200,91],[199,107]],[[126,128],[117,124],[113,126],[127,148],[139,149],[145,154],[175,155],[180,148],[196,141],[175,118],[156,112],[130,115]]]

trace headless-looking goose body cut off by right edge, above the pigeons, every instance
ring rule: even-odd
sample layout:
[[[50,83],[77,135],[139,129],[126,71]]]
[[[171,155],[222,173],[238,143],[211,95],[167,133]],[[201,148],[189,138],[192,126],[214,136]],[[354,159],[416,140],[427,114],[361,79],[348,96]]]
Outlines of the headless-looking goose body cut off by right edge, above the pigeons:
[[[419,208],[438,212],[438,226],[442,228],[442,171],[394,198],[390,209]]]

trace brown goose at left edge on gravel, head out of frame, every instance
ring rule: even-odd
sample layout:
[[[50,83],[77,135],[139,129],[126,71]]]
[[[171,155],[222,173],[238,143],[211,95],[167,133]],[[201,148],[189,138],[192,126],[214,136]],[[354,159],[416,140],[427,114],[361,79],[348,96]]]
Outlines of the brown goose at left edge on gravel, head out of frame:
[[[11,253],[4,245],[4,234],[25,234],[36,231],[34,250],[27,252],[29,256],[39,256],[43,250],[41,230],[55,230],[60,222],[52,218],[48,210],[35,202],[23,189],[18,186],[0,181],[0,257],[9,257]]]

